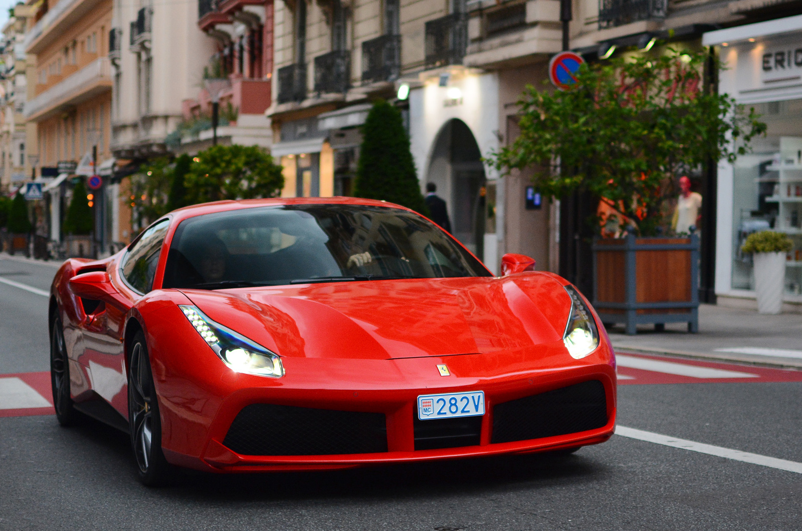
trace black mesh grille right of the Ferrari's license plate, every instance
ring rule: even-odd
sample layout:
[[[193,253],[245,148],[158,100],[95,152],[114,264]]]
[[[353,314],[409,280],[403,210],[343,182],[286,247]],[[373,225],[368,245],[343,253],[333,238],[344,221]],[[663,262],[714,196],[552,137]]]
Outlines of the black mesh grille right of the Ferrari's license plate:
[[[577,383],[493,407],[493,443],[584,432],[607,424],[604,384]]]

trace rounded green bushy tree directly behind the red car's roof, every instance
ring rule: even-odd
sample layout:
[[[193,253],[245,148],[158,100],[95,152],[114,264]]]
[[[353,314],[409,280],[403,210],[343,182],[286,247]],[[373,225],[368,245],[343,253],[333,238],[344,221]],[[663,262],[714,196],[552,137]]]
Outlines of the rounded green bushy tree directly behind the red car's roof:
[[[277,197],[282,167],[258,146],[217,145],[197,154],[184,176],[186,204]]]

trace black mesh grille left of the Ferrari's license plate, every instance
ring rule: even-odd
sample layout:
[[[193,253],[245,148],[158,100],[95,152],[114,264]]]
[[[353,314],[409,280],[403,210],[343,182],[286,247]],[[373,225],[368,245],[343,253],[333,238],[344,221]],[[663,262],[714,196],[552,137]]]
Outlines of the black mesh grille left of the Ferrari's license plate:
[[[383,413],[253,403],[223,441],[245,456],[326,456],[387,452]]]

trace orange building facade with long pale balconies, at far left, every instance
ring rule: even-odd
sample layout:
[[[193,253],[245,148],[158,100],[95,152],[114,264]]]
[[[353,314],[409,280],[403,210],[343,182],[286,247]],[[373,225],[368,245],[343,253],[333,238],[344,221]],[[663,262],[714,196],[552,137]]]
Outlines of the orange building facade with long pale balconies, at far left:
[[[58,186],[46,187],[48,232],[55,241],[63,237],[61,220],[71,197],[67,176],[82,159],[86,165],[111,156],[111,64],[104,39],[111,28],[111,7],[111,0],[34,4],[34,24],[25,36],[25,117],[34,137],[29,136],[28,144],[36,147],[40,178],[55,177],[63,169]],[[95,203],[95,238],[104,241],[110,236],[106,204],[100,197]]]

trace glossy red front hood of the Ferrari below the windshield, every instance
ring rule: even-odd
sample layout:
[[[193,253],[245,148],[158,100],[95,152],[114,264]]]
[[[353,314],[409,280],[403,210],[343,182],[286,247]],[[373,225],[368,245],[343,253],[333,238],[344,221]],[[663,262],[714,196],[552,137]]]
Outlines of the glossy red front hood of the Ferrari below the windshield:
[[[529,350],[562,337],[554,275],[182,290],[214,321],[282,356],[400,359]]]

